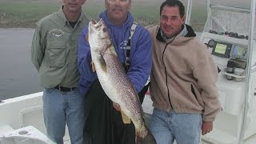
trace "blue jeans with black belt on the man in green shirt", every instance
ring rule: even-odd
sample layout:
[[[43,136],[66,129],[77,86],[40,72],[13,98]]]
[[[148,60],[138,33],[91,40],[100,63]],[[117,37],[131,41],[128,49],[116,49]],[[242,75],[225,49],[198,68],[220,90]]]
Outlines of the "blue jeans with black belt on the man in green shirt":
[[[63,144],[65,126],[67,125],[72,144],[83,143],[83,126],[85,122],[85,97],[78,89],[62,92],[56,89],[43,91],[43,116],[47,136],[58,144]]]

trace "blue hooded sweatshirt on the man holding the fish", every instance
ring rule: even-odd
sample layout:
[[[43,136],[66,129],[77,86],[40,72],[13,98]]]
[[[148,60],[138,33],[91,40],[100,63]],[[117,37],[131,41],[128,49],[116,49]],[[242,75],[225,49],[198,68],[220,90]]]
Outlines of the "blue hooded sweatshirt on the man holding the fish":
[[[130,29],[134,23],[134,18],[129,13],[126,22],[121,26],[114,26],[113,22],[110,22],[110,19],[107,18],[106,11],[100,14],[100,18],[102,18],[109,29],[110,37],[120,62],[125,62],[126,44],[130,37]],[[92,71],[90,66],[91,55],[89,43],[86,41],[87,33],[88,26],[82,30],[82,34],[78,41],[78,69],[80,71],[79,85],[82,95],[87,93],[92,82],[98,78],[97,74]],[[142,87],[149,78],[152,63],[151,57],[150,34],[144,27],[138,25],[131,38],[130,68],[127,72],[127,75],[137,92],[142,90]]]

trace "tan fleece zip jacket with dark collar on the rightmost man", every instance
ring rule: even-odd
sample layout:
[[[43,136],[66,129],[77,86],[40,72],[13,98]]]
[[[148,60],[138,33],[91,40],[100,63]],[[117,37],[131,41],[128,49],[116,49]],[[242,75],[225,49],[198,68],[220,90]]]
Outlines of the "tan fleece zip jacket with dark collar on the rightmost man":
[[[206,46],[187,25],[166,39],[159,26],[149,29],[152,38],[150,94],[153,106],[166,112],[202,114],[213,122],[220,110],[217,66]]]

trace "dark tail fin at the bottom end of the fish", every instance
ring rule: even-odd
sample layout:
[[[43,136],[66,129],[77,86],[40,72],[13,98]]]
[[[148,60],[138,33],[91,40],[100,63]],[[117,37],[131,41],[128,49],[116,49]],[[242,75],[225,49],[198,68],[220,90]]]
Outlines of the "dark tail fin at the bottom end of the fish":
[[[157,144],[157,142],[154,139],[153,134],[151,134],[150,130],[146,127],[147,134],[144,138],[142,138],[141,134],[136,134],[136,144]]]

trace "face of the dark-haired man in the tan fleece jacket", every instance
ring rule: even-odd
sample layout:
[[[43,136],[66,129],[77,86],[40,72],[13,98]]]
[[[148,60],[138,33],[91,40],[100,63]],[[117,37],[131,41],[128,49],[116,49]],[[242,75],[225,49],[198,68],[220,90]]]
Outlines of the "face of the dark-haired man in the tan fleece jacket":
[[[178,6],[164,6],[160,18],[160,28],[166,38],[172,38],[182,31],[184,17],[179,14]]]

